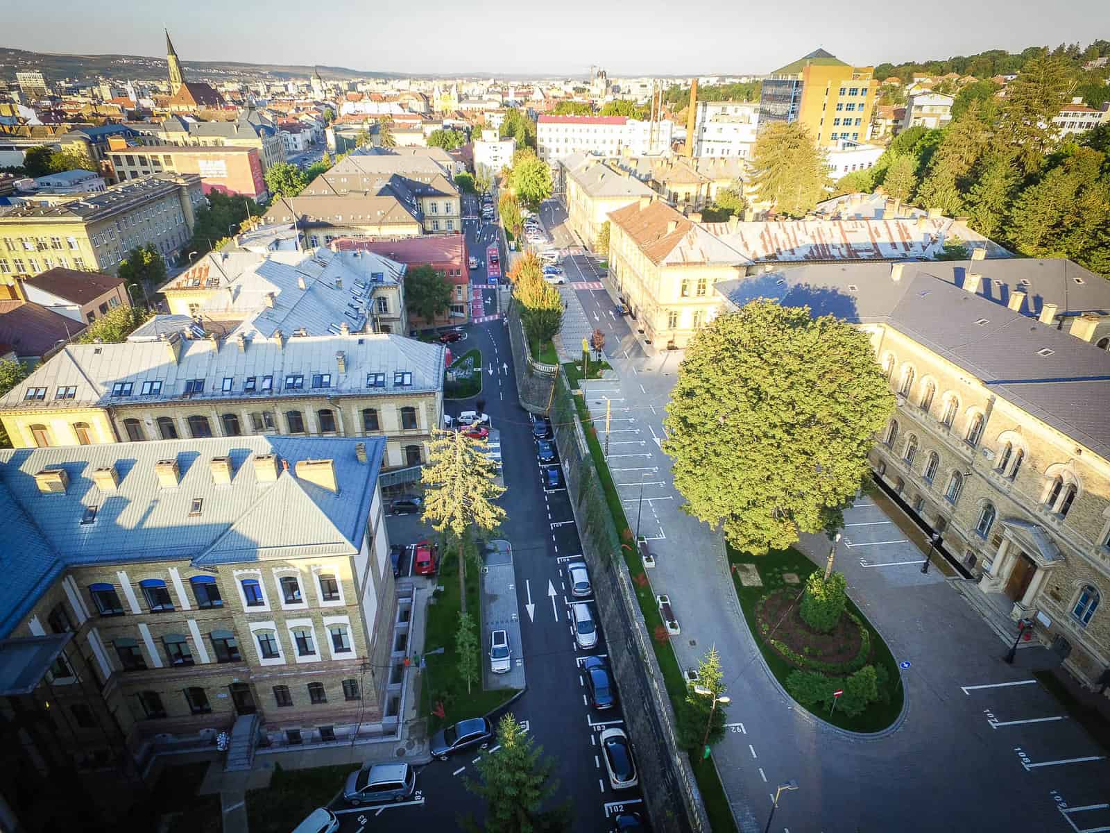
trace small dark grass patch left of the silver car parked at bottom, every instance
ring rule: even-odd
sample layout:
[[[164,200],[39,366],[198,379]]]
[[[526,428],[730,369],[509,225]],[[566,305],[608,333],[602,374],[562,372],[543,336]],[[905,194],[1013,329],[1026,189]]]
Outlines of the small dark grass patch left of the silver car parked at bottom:
[[[279,764],[270,786],[246,792],[246,822],[251,833],[289,833],[309,813],[334,799],[346,776],[356,769],[354,764],[341,764],[283,770]]]

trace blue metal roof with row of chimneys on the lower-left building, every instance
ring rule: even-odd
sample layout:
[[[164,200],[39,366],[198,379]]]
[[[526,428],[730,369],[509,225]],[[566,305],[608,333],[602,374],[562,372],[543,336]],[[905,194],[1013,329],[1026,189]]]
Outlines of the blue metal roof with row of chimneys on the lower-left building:
[[[355,445],[364,443],[366,462]],[[350,555],[365,535],[385,440],[234,436],[0,451],[0,512],[20,545],[0,548],[0,638],[7,636],[63,569],[191,559],[194,564],[303,555]],[[276,454],[278,480],[260,483],[252,459]],[[209,468],[231,459],[231,483]],[[154,464],[175,460],[176,488],[162,488]],[[332,460],[339,492],[295,475],[300,460]],[[287,468],[285,466],[287,464]],[[114,466],[119,486],[101,491],[99,468]],[[36,472],[61,468],[64,493],[42,494]],[[202,501],[193,513],[195,500]],[[92,523],[81,523],[97,508]]]

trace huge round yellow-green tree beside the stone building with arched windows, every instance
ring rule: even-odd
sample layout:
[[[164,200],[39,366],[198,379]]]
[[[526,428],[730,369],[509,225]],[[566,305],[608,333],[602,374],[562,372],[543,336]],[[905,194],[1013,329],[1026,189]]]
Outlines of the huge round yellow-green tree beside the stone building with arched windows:
[[[685,510],[764,553],[840,526],[894,405],[866,333],[753,301],[694,337],[663,450]]]

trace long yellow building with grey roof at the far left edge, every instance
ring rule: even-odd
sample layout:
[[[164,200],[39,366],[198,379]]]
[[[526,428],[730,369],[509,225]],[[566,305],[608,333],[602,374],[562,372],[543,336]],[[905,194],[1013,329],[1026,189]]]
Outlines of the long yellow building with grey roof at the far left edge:
[[[204,205],[201,178],[157,174],[52,205],[0,214],[0,274],[32,275],[54,267],[115,274],[137,245],[174,259]]]

